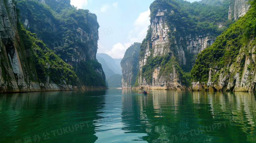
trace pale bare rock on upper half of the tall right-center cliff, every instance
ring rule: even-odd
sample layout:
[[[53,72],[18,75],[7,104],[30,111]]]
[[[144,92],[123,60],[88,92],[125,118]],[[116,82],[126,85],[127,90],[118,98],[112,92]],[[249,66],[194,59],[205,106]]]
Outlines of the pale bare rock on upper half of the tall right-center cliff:
[[[196,33],[186,33],[183,34],[181,31],[177,30],[177,24],[175,22],[172,23],[171,27],[167,26],[165,20],[164,12],[167,9],[158,9],[158,13],[151,24],[151,41],[153,46],[153,57],[155,56],[162,56],[166,53],[171,52],[170,49],[166,47],[170,46],[170,42],[168,38],[177,36],[178,38],[175,39],[175,46],[177,48],[178,58],[180,64],[186,64],[186,55],[185,50],[187,50],[190,54],[197,55],[203,49],[207,48],[208,46],[212,45],[215,41],[215,37],[211,33],[207,34],[196,34]],[[174,13],[174,11],[173,11]],[[167,32],[172,32],[169,36]],[[146,49],[146,54],[150,55],[149,47]],[[147,57],[145,56],[144,59]],[[144,62],[145,63],[145,62]]]

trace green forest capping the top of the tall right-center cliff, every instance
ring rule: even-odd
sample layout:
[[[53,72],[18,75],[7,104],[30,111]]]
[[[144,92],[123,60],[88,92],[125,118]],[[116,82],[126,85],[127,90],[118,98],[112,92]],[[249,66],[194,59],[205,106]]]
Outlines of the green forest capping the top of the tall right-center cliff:
[[[159,8],[171,9],[165,12],[167,24],[172,27],[175,23],[181,32],[201,35],[213,33],[218,36],[232,23],[232,20],[228,20],[228,0],[225,0],[221,6],[183,0],[156,0],[150,6],[151,21],[156,17]]]

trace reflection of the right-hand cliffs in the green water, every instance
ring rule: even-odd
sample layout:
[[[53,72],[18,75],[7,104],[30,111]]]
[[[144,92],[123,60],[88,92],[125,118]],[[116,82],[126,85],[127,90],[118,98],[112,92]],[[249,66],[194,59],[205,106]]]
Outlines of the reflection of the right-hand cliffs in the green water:
[[[255,142],[254,93],[149,91],[122,97],[122,129],[147,142]]]

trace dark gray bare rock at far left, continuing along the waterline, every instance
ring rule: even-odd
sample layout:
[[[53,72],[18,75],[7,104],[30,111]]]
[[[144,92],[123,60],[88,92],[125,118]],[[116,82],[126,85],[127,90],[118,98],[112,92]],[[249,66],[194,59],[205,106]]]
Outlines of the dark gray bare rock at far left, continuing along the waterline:
[[[86,86],[81,83],[69,85],[65,81],[53,83],[49,81],[49,77],[44,83],[37,82],[32,57],[23,54],[25,49],[17,30],[18,19],[14,0],[0,0],[0,14],[0,92],[107,89],[105,86]],[[95,55],[92,54],[92,59]],[[102,68],[98,72],[103,75]]]

